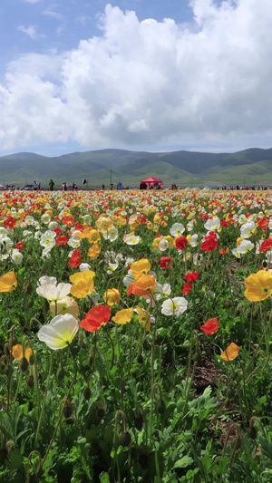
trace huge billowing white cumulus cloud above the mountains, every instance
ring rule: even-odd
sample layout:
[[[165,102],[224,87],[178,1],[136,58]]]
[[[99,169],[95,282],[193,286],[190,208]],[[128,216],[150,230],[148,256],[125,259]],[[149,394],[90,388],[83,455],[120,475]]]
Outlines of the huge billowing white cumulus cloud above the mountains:
[[[217,145],[270,136],[270,0],[190,5],[190,25],[140,22],[107,5],[100,36],[11,63],[0,85],[1,143]]]

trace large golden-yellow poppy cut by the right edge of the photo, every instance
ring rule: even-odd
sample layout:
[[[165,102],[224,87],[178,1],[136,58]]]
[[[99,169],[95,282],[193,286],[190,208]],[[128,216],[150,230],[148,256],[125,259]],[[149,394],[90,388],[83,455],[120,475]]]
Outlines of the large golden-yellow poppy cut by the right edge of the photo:
[[[245,297],[250,302],[265,300],[272,294],[272,274],[266,270],[259,270],[257,274],[251,274],[245,280]]]

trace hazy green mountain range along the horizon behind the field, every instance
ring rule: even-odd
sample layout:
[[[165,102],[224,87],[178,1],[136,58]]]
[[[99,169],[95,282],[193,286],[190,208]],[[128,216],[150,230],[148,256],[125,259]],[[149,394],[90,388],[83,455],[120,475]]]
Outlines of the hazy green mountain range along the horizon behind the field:
[[[52,178],[88,188],[109,186],[111,181],[138,187],[142,179],[162,179],[165,187],[258,185],[272,183],[272,149],[252,148],[235,153],[193,151],[145,152],[130,150],[92,150],[49,158],[33,152],[0,157],[0,184],[24,186],[36,180],[44,188]]]

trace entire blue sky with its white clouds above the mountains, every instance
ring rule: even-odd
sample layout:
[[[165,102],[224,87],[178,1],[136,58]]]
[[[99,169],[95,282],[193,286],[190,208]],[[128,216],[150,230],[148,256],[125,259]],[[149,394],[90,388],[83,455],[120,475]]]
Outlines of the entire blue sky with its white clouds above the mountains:
[[[2,1],[0,155],[271,147],[271,21],[270,0]]]

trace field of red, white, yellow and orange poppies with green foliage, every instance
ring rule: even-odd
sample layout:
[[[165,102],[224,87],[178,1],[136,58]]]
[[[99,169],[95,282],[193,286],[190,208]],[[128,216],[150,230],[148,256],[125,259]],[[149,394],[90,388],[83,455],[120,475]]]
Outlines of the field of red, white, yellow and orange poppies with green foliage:
[[[272,480],[269,191],[2,191],[0,258],[0,482]]]

